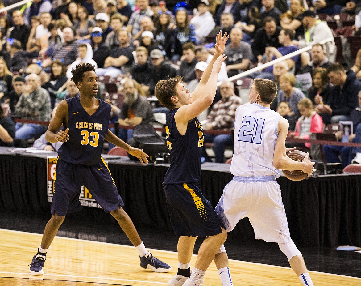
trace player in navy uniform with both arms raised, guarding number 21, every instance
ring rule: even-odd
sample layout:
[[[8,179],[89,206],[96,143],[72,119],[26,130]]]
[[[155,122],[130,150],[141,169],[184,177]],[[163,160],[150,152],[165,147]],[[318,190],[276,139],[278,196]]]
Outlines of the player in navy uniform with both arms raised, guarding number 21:
[[[213,259],[223,286],[232,285],[228,257],[223,247],[227,238],[225,226],[199,187],[204,134],[196,118],[213,102],[218,72],[226,59],[223,51],[227,39],[227,33],[223,37],[221,31],[217,34],[216,52],[192,94],[179,76],[161,80],[155,87],[158,100],[170,110],[166,119],[166,144],[171,152],[171,163],[163,188],[171,225],[179,240],[178,272],[168,281],[169,286],[201,285]],[[205,240],[191,273],[191,257],[197,236],[205,237]]]

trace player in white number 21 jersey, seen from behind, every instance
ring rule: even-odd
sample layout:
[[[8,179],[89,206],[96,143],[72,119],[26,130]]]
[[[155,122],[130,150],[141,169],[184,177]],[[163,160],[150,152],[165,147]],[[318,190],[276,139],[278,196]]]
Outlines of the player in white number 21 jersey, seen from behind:
[[[227,231],[248,217],[255,238],[277,242],[304,286],[313,286],[301,252],[290,237],[286,212],[276,178],[278,169],[312,174],[308,153],[302,162],[286,156],[288,121],[270,109],[277,93],[273,81],[256,78],[249,91],[250,105],[236,110],[233,180],[223,190],[216,212]]]

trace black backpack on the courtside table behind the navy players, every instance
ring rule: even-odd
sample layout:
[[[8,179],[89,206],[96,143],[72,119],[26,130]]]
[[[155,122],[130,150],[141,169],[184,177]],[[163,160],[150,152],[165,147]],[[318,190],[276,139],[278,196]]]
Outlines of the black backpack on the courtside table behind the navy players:
[[[149,162],[170,163],[170,150],[165,145],[165,139],[157,134],[153,125],[136,125],[133,129],[133,137],[128,140],[128,144],[134,148],[143,149],[144,153],[149,155]],[[138,158],[129,153],[128,157],[138,161]]]

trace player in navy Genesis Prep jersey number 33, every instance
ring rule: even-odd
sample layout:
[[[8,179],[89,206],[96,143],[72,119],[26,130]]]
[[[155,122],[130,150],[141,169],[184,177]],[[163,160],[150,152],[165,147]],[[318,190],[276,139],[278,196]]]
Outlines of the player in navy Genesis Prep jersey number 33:
[[[133,222],[122,208],[123,200],[119,196],[108,167],[100,156],[104,139],[127,150],[142,164],[148,163],[148,155],[141,149],[132,148],[108,129],[112,107],[95,98],[98,91],[95,67],[91,64],[77,65],[71,73],[72,81],[77,85],[80,96],[65,99],[59,104],[45,134],[48,142],[63,144],[58,150],[56,161],[52,217],[45,226],[38,253],[32,259],[30,274],[44,274],[43,266],[47,250],[65,215],[82,209],[79,203],[82,185],[90,191],[104,211],[118,221],[139,253],[140,266],[155,272],[168,272],[171,270],[170,266],[156,259],[145,249]],[[58,132],[61,124],[64,124],[65,131]]]

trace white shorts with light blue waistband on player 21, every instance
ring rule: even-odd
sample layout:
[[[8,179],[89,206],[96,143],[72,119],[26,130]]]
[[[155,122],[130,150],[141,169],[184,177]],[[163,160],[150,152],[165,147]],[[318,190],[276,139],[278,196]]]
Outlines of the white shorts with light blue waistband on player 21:
[[[227,231],[234,229],[240,219],[248,217],[255,239],[277,243],[290,240],[281,191],[274,176],[234,176],[223,189],[216,213]]]

